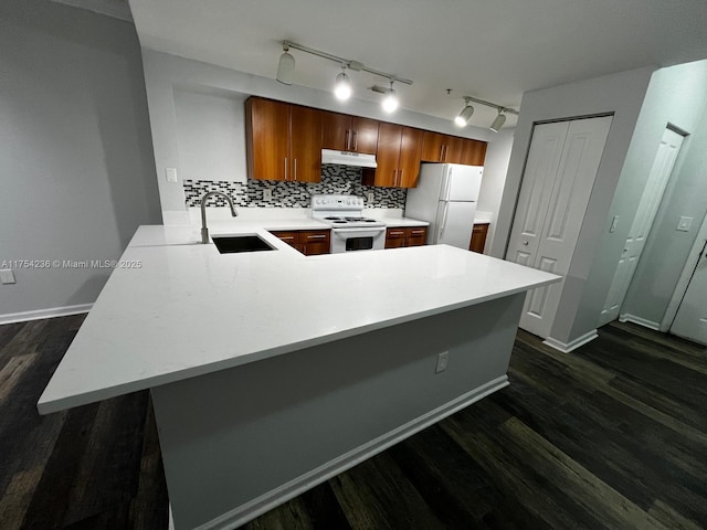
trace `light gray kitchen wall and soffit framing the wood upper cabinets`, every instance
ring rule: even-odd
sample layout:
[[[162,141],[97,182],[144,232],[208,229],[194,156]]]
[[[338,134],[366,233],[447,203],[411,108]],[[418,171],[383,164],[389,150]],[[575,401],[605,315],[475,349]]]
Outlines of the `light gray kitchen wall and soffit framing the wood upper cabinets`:
[[[502,141],[498,148],[493,145],[498,139],[508,138],[507,131],[495,132],[467,127],[458,129],[451,120],[425,116],[401,109],[394,117],[386,115],[380,106],[371,102],[351,99],[342,107],[330,92],[317,91],[304,86],[285,86],[275,80],[238,72],[222,66],[178,57],[167,53],[143,49],[145,64],[145,83],[149,103],[152,142],[155,146],[155,166],[159,184],[160,200],[165,222],[168,224],[188,223],[189,216],[184,206],[184,193],[181,181],[234,180],[245,182],[245,139],[243,112],[232,112],[228,119],[218,117],[218,109],[235,109],[250,95],[272,97],[334,112],[345,112],[437,130],[456,136],[466,136],[489,142],[492,156],[486,166],[487,177],[482,184],[488,186],[485,192],[487,203],[500,202],[499,193],[505,179],[505,168],[510,156],[510,144]],[[188,127],[191,130],[183,130]],[[199,130],[196,135],[192,131]],[[203,135],[225,135],[232,138],[235,147],[223,144],[202,144],[198,137]],[[196,139],[196,140],[194,140]],[[224,147],[225,146],[225,147]],[[221,152],[229,149],[228,156]],[[211,161],[215,160],[213,163]],[[200,169],[202,166],[202,169]],[[205,169],[208,166],[209,169]],[[500,169],[494,169],[498,166]],[[177,168],[179,181],[166,181],[165,168]],[[215,178],[215,174],[222,178]],[[494,194],[498,194],[495,197]],[[481,206],[479,206],[481,210]]]

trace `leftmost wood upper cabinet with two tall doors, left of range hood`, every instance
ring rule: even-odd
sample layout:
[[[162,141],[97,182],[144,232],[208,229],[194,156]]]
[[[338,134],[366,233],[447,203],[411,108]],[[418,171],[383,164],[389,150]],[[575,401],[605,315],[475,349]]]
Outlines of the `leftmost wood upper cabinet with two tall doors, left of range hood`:
[[[250,97],[245,102],[249,177],[258,180],[321,180],[320,110]]]

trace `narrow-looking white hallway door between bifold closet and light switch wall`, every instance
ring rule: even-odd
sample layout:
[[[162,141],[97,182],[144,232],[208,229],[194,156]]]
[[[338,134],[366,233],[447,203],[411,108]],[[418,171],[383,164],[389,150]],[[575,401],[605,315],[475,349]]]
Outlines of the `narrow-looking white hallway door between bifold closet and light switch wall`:
[[[626,297],[631,279],[643,253],[645,241],[651,231],[651,226],[653,226],[655,214],[661,205],[665,187],[675,167],[675,160],[677,159],[682,145],[683,136],[671,129],[665,129],[651,172],[648,173],[648,180],[643,190],[643,195],[641,197],[639,210],[633,219],[631,231],[626,237],[619,264],[616,265],[614,279],[611,283],[604,308],[599,318],[599,326],[603,326],[619,317],[621,305]]]

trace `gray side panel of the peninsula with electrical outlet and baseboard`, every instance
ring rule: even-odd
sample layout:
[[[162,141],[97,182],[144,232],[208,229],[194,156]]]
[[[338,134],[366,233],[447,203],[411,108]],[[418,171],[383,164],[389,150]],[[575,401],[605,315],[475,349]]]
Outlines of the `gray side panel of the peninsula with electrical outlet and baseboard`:
[[[152,389],[176,529],[244,523],[505,386],[525,296]]]

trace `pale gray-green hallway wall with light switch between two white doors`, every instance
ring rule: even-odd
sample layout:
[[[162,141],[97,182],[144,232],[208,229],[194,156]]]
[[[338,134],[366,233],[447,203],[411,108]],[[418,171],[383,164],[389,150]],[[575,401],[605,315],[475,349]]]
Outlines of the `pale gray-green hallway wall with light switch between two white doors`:
[[[690,136],[683,142],[621,312],[659,325],[707,212],[707,61],[659,71],[651,91],[654,83],[656,105],[646,113],[658,115],[656,132],[667,118]],[[651,147],[653,142],[655,138]],[[675,230],[680,216],[694,218],[689,232]]]

